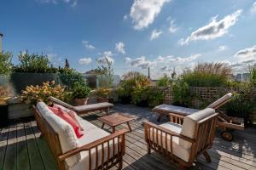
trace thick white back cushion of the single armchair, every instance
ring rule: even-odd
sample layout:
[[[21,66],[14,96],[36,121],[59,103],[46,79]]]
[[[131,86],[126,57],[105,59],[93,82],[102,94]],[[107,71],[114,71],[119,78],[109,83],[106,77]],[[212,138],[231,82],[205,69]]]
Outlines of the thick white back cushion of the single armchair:
[[[194,139],[196,122],[201,121],[207,116],[212,116],[214,113],[215,113],[214,109],[207,108],[201,111],[197,111],[189,116],[185,116],[183,120],[183,127],[182,127],[181,134],[191,139]],[[187,149],[191,147],[191,143],[184,140],[180,140],[180,144],[182,144],[183,147]]]

